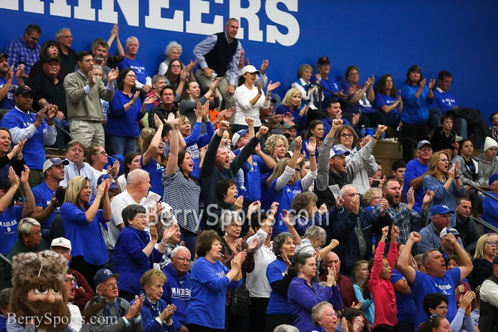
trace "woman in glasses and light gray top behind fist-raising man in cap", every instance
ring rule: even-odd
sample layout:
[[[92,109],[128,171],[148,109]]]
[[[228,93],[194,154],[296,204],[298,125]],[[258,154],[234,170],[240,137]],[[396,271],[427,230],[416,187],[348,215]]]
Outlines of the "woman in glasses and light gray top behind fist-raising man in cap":
[[[359,143],[358,135],[351,126],[342,126],[335,135],[335,147],[349,152],[347,156],[347,163],[354,163],[358,165],[358,172],[354,174],[352,184],[356,187],[360,194],[364,194],[370,188],[369,177],[376,174],[378,165],[374,156],[371,155],[377,140],[386,131],[387,127],[378,126],[374,136],[364,138],[361,149],[357,150],[356,147]],[[369,139],[368,139],[369,138]]]

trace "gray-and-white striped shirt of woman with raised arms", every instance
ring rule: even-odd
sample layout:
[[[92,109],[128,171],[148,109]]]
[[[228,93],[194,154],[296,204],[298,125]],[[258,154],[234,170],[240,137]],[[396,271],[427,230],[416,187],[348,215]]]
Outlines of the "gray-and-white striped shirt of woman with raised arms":
[[[187,179],[178,168],[173,174],[163,172],[165,188],[163,202],[173,208],[178,225],[196,233],[199,230],[199,196],[201,186],[192,179]]]

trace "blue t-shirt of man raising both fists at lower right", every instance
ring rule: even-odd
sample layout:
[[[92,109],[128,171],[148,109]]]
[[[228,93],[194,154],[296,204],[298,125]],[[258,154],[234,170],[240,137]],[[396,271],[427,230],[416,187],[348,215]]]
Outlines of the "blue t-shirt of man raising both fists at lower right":
[[[448,314],[446,319],[451,322],[457,315],[457,299],[455,298],[455,288],[460,283],[460,269],[452,268],[447,270],[442,278],[431,277],[425,273],[416,271],[413,286],[413,295],[416,307],[415,331],[418,325],[427,320],[427,313],[423,310],[423,298],[429,293],[440,293],[448,297]]]

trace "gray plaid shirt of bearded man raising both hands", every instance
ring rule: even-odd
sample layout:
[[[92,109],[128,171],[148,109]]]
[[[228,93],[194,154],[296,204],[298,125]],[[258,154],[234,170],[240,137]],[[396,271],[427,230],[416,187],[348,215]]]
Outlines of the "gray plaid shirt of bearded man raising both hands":
[[[396,211],[396,209],[389,205],[389,208],[387,208],[387,214],[389,214],[393,223],[400,229],[398,242],[405,244],[409,238],[410,226],[418,225],[420,227],[425,227],[428,221],[428,214],[427,210],[421,210],[421,213],[419,214],[415,210],[407,208],[407,204],[405,203],[400,203],[398,210],[399,211]],[[380,215],[380,203],[374,206],[372,213],[374,216]]]

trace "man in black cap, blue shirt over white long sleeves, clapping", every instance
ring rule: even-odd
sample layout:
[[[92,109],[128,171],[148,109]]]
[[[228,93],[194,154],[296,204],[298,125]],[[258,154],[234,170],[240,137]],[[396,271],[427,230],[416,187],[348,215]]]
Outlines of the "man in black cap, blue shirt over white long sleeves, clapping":
[[[37,113],[30,112],[33,107],[33,90],[28,86],[19,86],[14,93],[14,100],[15,108],[3,116],[0,126],[10,130],[14,142],[28,139],[23,155],[26,165],[31,169],[30,185],[35,187],[44,181],[44,145],[53,145],[57,137],[54,126],[57,111],[49,105]],[[45,114],[48,116],[47,122],[44,120]]]

